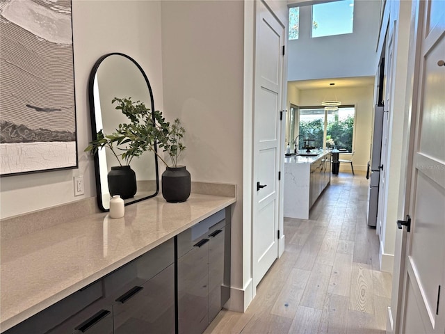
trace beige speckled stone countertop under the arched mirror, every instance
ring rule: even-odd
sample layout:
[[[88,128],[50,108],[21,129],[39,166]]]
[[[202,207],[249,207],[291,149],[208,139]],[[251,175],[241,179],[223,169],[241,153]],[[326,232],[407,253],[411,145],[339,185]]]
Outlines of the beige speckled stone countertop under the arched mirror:
[[[1,242],[0,328],[19,324],[82,287],[232,205],[233,197],[192,193],[125,207],[124,218],[92,214]]]

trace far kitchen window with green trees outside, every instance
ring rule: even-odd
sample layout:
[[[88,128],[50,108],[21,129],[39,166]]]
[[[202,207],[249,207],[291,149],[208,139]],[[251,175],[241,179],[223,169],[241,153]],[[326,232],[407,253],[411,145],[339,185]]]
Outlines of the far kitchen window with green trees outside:
[[[355,107],[339,106],[337,110],[300,108],[299,148],[305,139],[314,148],[344,148],[353,152]]]

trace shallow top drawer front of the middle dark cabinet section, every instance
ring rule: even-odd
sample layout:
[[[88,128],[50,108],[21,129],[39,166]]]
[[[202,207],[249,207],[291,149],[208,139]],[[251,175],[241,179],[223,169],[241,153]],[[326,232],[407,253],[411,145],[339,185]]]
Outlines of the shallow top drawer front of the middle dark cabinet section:
[[[175,262],[173,239],[149,250],[104,278],[105,294],[111,299],[124,293],[129,285],[142,285]]]

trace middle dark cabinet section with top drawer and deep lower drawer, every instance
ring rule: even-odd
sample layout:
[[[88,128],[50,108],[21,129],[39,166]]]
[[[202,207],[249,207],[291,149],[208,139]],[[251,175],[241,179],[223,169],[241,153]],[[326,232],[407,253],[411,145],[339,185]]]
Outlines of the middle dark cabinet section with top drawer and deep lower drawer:
[[[175,333],[173,239],[104,278],[115,334]]]

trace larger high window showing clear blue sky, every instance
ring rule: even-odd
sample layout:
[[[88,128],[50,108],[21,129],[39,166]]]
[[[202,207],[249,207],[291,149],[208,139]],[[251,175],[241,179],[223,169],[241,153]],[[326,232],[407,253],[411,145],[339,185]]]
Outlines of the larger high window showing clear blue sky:
[[[354,0],[318,3],[312,6],[312,37],[352,33],[353,21]]]

